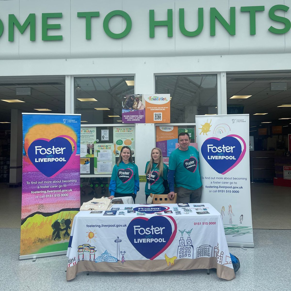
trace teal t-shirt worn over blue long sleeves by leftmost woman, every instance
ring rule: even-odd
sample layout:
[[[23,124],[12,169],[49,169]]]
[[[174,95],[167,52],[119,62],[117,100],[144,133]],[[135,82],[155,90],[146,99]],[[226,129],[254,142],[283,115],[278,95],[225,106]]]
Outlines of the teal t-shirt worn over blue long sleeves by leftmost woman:
[[[136,164],[121,162],[113,167],[111,180],[116,181],[116,191],[120,194],[134,193],[134,180],[139,180],[139,169]]]

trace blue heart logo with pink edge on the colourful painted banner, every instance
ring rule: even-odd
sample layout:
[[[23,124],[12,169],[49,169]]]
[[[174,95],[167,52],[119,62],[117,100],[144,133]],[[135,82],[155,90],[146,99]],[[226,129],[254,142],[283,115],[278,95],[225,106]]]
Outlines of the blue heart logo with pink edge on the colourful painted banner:
[[[47,177],[57,175],[68,163],[72,153],[70,141],[60,136],[51,140],[36,139],[27,150],[33,165]]]

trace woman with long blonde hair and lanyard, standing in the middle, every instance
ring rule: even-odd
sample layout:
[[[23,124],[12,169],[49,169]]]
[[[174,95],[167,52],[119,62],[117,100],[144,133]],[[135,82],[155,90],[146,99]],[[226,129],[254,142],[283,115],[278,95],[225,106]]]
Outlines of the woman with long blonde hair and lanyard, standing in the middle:
[[[145,175],[145,201],[150,193],[163,194],[165,187],[168,187],[168,166],[163,163],[163,155],[159,148],[153,148],[150,154],[150,161],[146,163]]]

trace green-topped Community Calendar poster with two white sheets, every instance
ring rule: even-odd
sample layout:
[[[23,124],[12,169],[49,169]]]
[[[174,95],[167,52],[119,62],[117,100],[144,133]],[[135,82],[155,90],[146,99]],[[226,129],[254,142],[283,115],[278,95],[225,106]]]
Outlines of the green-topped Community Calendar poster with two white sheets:
[[[115,165],[114,143],[95,143],[94,174],[111,174],[112,165]]]

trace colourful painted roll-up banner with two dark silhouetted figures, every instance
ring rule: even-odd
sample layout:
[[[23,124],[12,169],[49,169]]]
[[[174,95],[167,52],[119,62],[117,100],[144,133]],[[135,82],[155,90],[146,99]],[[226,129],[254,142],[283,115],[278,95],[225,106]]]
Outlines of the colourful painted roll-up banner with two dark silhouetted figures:
[[[81,114],[22,114],[19,260],[62,255],[80,208]]]

